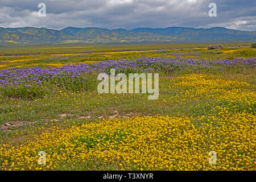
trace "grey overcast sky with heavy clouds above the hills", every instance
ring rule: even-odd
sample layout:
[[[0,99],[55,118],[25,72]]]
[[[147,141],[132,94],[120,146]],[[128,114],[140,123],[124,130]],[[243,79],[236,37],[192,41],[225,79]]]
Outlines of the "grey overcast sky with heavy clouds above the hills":
[[[46,4],[46,17],[38,4]],[[216,3],[217,16],[208,15]],[[1,0],[0,27],[226,27],[256,31],[255,0]]]

